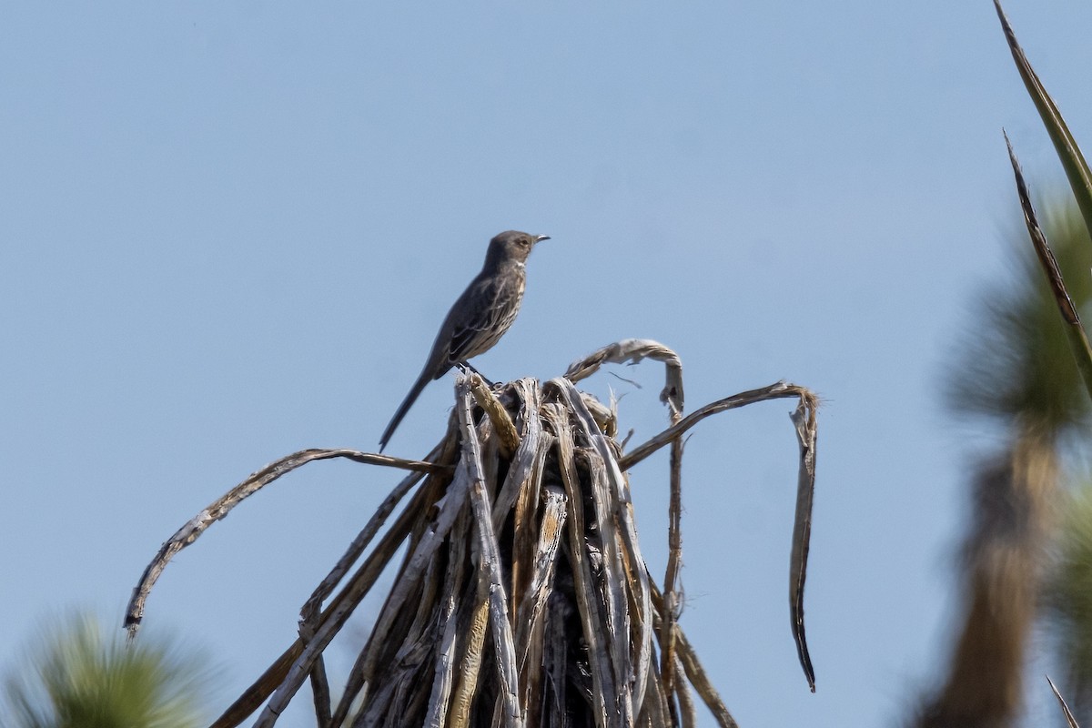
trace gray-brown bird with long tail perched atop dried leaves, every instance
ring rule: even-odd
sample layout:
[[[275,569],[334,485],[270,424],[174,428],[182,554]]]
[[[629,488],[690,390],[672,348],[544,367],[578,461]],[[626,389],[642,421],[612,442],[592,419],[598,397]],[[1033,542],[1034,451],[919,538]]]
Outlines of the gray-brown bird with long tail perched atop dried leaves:
[[[482,272],[448,311],[420,375],[379,439],[379,452],[383,452],[426,384],[452,367],[468,366],[467,359],[488,351],[509,330],[523,301],[527,255],[543,240],[549,240],[549,236],[507,230],[489,241]]]

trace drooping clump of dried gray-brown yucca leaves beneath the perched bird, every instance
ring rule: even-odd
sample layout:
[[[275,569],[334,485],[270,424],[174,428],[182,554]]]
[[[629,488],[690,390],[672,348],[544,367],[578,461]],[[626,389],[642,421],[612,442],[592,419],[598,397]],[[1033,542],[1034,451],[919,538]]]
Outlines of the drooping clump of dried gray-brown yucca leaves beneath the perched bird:
[[[662,397],[672,426],[624,454],[615,413],[573,382],[605,362],[642,358],[665,363]],[[284,473],[322,457],[414,470],[304,605],[299,640],[215,728],[240,725],[263,704],[254,725],[273,726],[308,679],[320,726],[690,726],[697,720],[690,685],[717,725],[735,726],[678,623],[680,443],[704,417],[779,397],[799,401],[790,599],[800,664],[815,689],[803,621],[815,482],[810,392],[778,383],[684,418],[678,357],[646,339],[604,347],[566,378],[488,389],[471,374],[458,378],[455,392],[455,416],[426,461],[304,451],[252,475],[161,549],[133,593],[132,625],[174,553]],[[672,556],[662,590],[641,556],[626,470],[667,444]],[[390,593],[333,705],[322,653],[403,546]]]

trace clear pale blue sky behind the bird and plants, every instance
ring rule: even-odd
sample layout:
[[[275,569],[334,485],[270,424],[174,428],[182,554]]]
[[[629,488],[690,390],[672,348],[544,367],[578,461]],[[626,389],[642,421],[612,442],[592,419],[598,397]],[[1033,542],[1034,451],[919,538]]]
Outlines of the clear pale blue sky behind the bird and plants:
[[[1092,5],[1007,10],[1088,148]],[[515,326],[476,361],[491,379],[649,337],[681,356],[691,410],[780,379],[823,397],[815,695],[788,633],[790,406],[721,415],[688,443],[682,625],[740,725],[890,725],[937,676],[962,474],[988,447],[968,446],[939,386],[968,303],[1006,270],[1001,127],[1033,183],[1060,179],[992,3],[3,16],[4,666],[43,616],[120,624],[159,544],[250,472],[375,449],[486,241],[518,228],[553,239]],[[666,421],[662,371],[620,373],[643,389],[587,389],[624,395],[640,441]],[[389,452],[430,449],[451,383]],[[653,573],[666,473],[665,454],[631,473]],[[397,478],[308,466],[168,566],[146,623],[223,665],[213,709],[290,643]],[[347,667],[351,646],[332,649]]]

